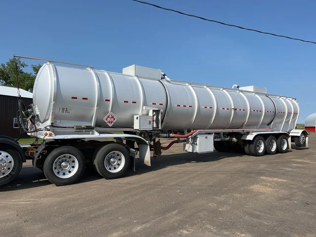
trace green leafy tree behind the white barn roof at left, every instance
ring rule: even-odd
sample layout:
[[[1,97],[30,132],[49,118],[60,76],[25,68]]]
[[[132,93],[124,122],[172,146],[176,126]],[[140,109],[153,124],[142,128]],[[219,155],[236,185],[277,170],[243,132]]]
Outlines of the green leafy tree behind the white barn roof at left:
[[[33,85],[38,74],[41,65],[31,65],[33,73],[27,73],[23,70],[28,67],[28,65],[21,61],[20,58],[9,59],[8,62],[0,64],[0,85],[17,87],[16,85],[16,76],[15,76],[15,60],[17,63],[18,79],[19,79],[19,88],[33,91]]]

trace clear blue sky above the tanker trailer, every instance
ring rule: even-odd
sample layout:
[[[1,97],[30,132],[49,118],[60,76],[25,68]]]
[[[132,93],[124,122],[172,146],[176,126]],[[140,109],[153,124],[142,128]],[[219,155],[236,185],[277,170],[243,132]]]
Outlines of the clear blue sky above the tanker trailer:
[[[312,0],[148,0],[205,18],[316,41]],[[131,0],[3,1],[0,63],[13,54],[121,72],[138,64],[169,78],[257,85],[316,112],[316,44],[222,26]],[[36,63],[26,60],[28,64]]]

